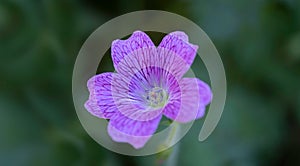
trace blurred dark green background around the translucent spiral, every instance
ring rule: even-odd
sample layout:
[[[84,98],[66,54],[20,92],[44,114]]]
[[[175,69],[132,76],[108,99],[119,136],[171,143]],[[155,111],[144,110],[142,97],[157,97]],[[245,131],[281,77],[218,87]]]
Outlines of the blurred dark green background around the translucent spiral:
[[[85,39],[106,21],[144,9],[197,23],[226,69],[227,103],[216,130],[198,142],[198,120],[172,161],[106,150],[82,128],[72,102],[73,65]],[[112,69],[109,56],[101,63]],[[0,165],[300,165],[299,85],[299,0],[0,0]]]

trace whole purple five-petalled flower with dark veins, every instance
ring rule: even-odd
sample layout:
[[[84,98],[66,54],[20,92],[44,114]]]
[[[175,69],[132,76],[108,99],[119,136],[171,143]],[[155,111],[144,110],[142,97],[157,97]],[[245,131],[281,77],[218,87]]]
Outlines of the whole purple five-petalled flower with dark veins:
[[[158,47],[141,31],[112,42],[116,73],[88,80],[85,108],[109,119],[108,133],[116,142],[138,149],[155,133],[162,115],[186,123],[200,118],[212,100],[210,87],[197,78],[182,78],[198,46],[184,32],[165,36]]]

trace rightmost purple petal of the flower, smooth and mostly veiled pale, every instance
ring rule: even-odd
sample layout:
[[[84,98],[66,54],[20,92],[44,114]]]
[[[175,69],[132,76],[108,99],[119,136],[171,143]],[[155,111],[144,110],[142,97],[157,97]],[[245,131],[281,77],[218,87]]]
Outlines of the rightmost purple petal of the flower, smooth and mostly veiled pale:
[[[179,81],[179,88],[173,88],[174,92],[163,110],[164,115],[181,123],[202,117],[205,105],[211,100],[208,100],[211,96],[208,85],[197,78],[183,78]]]

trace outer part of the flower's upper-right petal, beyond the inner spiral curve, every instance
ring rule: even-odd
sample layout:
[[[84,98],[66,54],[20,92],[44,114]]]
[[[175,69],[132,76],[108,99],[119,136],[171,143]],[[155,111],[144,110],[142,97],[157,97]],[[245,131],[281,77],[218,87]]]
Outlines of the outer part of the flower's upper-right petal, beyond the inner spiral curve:
[[[168,52],[169,56],[179,56],[185,62],[184,74],[192,65],[197,49],[198,46],[188,42],[188,36],[184,32],[175,31],[163,38],[157,51],[158,54]]]

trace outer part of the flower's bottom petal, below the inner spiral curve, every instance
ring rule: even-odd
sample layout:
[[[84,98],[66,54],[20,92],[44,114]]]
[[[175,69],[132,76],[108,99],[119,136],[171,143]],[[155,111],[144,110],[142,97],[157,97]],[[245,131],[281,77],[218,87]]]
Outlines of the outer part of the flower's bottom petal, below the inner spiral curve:
[[[127,142],[134,148],[142,148],[155,133],[161,116],[149,121],[137,121],[116,114],[108,124],[108,133],[116,142]]]

